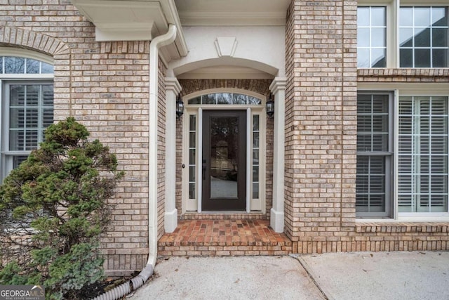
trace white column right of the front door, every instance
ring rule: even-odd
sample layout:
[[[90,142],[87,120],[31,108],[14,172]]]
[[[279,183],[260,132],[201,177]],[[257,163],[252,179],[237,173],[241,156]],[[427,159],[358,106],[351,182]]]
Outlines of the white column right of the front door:
[[[286,81],[285,77],[276,77],[269,86],[274,94],[273,207],[270,211],[270,226],[276,233],[283,233],[285,217],[283,202]]]

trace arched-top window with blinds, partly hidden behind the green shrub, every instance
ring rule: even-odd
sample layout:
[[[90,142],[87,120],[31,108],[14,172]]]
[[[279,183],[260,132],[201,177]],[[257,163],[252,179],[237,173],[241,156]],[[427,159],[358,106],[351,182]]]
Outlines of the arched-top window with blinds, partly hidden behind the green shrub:
[[[0,181],[27,159],[53,124],[53,65],[0,56]]]

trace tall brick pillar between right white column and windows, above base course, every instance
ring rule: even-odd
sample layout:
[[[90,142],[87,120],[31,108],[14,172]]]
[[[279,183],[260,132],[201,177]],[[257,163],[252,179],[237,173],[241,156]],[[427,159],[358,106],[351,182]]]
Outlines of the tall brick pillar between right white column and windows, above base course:
[[[293,1],[286,30],[286,233],[339,240],[355,216],[356,1]]]

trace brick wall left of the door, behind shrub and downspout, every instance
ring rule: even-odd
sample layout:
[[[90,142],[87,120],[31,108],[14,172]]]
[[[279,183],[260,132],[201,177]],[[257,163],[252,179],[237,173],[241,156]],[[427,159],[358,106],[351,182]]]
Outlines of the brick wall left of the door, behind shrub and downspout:
[[[76,117],[108,145],[126,171],[102,240],[113,274],[145,266],[148,254],[149,41],[95,41],[95,27],[67,0],[0,1],[0,46],[53,56],[55,121]],[[163,75],[163,70],[161,70]],[[165,99],[159,82],[159,197],[163,210]],[[160,212],[159,228],[163,230]],[[161,232],[159,233],[161,235]]]

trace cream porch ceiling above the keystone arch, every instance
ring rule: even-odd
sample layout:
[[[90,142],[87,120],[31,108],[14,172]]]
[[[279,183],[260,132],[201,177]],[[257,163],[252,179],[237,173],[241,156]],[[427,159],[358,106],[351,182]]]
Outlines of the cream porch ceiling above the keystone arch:
[[[175,0],[183,26],[284,26],[291,0]]]

